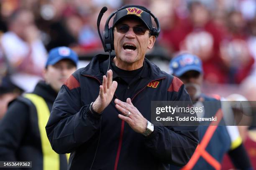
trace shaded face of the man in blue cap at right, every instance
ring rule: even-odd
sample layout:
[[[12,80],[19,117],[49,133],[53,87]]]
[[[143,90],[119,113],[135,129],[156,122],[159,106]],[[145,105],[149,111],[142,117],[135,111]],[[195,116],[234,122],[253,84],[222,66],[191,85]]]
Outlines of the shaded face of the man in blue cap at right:
[[[183,75],[179,77],[180,80],[185,85],[187,92],[189,93],[192,100],[197,100],[199,95],[201,94],[201,85],[203,76],[200,72],[191,70],[185,72]]]

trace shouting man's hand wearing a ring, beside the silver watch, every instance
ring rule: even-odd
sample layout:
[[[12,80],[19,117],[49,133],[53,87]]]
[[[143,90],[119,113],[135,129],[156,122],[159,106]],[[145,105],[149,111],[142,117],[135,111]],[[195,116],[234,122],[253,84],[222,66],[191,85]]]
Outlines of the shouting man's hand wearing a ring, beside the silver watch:
[[[118,114],[118,117],[125,122],[127,122],[130,127],[137,133],[143,133],[147,127],[147,120],[138,109],[133,106],[130,98],[127,98],[126,102],[122,102],[121,100],[115,99],[115,107],[119,110],[123,115]]]

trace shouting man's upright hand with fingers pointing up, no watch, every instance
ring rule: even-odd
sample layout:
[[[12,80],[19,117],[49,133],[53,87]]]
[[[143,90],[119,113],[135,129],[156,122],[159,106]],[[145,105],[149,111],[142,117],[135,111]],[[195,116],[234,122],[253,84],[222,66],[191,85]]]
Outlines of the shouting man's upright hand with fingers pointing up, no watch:
[[[100,94],[92,104],[92,109],[97,113],[101,113],[109,105],[118,85],[116,81],[112,82],[112,70],[108,70],[107,75],[108,77],[103,75],[103,82],[102,85],[100,85]]]

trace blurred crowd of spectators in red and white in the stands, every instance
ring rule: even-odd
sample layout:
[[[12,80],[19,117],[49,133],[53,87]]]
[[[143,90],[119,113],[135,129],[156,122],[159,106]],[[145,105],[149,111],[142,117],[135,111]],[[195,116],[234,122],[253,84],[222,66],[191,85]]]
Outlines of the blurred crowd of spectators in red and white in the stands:
[[[256,0],[1,0],[0,119],[9,101],[42,79],[52,48],[70,47],[80,60],[104,52],[98,14],[108,7],[103,32],[108,16],[128,4],[143,5],[159,19],[161,32],[148,55],[164,56],[156,64],[162,70],[178,53],[190,52],[202,60],[205,93],[256,101]]]

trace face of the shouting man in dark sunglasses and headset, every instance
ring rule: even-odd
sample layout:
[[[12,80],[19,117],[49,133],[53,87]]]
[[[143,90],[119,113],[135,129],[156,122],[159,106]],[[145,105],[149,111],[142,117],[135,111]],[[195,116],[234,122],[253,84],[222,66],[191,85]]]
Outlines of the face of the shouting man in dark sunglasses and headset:
[[[123,33],[125,32],[123,31],[124,28],[127,28],[127,26],[129,27],[128,31]],[[143,35],[138,34],[141,31],[140,29],[146,30]],[[134,32],[133,30],[136,31]],[[151,49],[154,42],[155,37],[149,36],[149,30],[139,19],[127,18],[120,21],[114,28],[114,47],[119,65],[117,66],[120,67],[121,65],[120,68],[122,68],[123,65],[130,65],[134,69],[141,67],[146,50]]]

